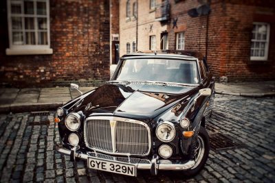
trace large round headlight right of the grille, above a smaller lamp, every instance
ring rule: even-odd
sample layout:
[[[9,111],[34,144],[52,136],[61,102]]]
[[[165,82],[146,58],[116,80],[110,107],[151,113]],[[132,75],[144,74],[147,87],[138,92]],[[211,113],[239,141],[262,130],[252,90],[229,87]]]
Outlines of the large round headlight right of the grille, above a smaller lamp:
[[[168,121],[164,121],[164,123],[157,126],[155,134],[160,141],[166,143],[170,142],[175,138],[175,125]]]

